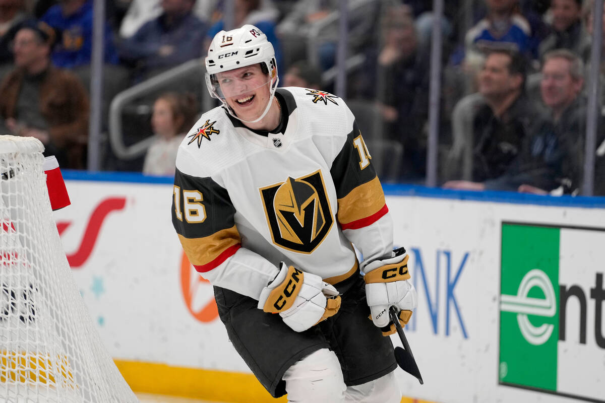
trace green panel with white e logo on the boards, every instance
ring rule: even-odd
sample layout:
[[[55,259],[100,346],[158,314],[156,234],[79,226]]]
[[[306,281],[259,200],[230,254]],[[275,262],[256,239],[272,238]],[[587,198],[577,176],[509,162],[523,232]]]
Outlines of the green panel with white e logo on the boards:
[[[500,382],[557,390],[559,232],[502,226]]]

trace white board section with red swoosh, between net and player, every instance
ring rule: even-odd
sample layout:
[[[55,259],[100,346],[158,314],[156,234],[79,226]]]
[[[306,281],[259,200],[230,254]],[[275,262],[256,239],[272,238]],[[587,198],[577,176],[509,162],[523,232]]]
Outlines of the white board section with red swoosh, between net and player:
[[[212,286],[187,264],[171,185],[67,181],[57,228],[114,358],[247,371],[218,320]]]

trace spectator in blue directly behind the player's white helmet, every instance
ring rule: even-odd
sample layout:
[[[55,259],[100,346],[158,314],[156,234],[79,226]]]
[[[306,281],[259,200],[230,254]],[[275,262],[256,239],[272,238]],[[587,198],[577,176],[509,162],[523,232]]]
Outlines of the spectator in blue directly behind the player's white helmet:
[[[234,28],[239,28],[242,25],[250,24],[257,27],[267,36],[267,40],[273,45],[275,50],[275,59],[277,60],[277,71],[285,71],[282,65],[281,44],[275,34],[275,22],[280,16],[277,8],[268,0],[235,0],[234,1]],[[218,31],[224,30],[224,18],[217,21],[206,35],[204,41],[204,49],[208,49],[212,38]],[[280,74],[281,78],[281,74]]]

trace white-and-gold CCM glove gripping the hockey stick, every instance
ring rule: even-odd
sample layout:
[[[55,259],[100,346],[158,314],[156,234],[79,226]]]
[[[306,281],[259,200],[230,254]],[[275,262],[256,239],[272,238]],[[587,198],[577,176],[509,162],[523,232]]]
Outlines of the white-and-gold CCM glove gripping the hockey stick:
[[[399,322],[405,326],[410,320],[412,309],[418,300],[416,289],[410,282],[408,255],[404,248],[394,251],[394,257],[374,260],[364,268],[365,297],[370,306],[370,318],[381,328],[382,335],[396,332],[395,324],[390,320],[388,308],[399,309]]]

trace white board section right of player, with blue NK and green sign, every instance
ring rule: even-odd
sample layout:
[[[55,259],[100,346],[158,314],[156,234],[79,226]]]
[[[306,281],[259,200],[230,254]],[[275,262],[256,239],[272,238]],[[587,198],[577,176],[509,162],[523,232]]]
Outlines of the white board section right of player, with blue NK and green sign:
[[[425,385],[400,373],[407,395],[605,401],[603,209],[420,197],[387,203],[419,292],[407,332]],[[533,269],[550,275],[551,312],[543,312],[548,295],[537,279],[522,288]],[[512,298],[503,295],[518,305],[507,306]],[[522,324],[529,332],[551,326],[551,334],[532,340]]]

